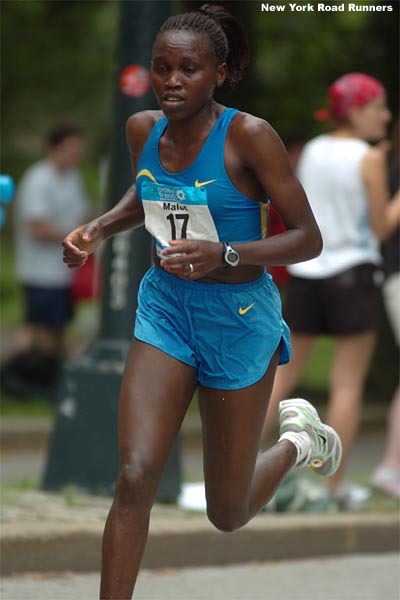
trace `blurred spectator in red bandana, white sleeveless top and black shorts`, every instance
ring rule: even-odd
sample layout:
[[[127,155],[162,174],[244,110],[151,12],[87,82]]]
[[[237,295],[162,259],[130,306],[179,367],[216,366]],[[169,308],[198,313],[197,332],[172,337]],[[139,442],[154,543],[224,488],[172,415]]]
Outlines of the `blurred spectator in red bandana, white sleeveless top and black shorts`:
[[[365,377],[379,328],[381,305],[379,240],[398,226],[400,197],[388,203],[386,155],[370,146],[386,136],[391,114],[384,87],[361,73],[349,73],[329,88],[334,129],[304,147],[298,176],[322,232],[318,258],[290,266],[285,318],[293,356],[275,377],[264,438],[276,421],[280,400],[297,385],[318,336],[334,337],[326,421],[339,433],[343,461],[327,480],[339,506],[349,509],[368,490],[343,482],[360,418]]]

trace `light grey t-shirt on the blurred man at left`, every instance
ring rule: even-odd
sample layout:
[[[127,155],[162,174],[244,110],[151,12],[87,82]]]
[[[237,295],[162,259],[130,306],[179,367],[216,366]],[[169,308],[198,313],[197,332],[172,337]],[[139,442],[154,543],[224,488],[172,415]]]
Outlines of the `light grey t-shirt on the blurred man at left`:
[[[34,239],[31,221],[46,222],[67,235],[84,222],[87,196],[78,169],[57,171],[47,160],[23,175],[16,195],[16,274],[26,285],[65,287],[72,272],[62,262],[61,242]]]

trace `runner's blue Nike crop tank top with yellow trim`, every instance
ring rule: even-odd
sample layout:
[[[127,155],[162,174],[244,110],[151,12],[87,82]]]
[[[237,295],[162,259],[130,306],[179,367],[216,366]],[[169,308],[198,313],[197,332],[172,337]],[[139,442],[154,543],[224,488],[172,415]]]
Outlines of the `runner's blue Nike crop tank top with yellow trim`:
[[[189,237],[215,240],[217,235],[220,241],[228,240],[233,243],[254,241],[265,237],[267,204],[259,203],[242,194],[230,180],[225,168],[226,135],[237,112],[238,110],[234,108],[224,110],[210,131],[197,158],[187,169],[178,173],[170,173],[164,169],[159,158],[159,141],[168,125],[167,118],[162,117],[151,130],[139,158],[136,189],[144,205],[149,205],[149,200],[158,201],[161,212],[157,216],[152,215],[153,221],[165,214],[165,218],[169,219],[175,228],[172,239]],[[171,190],[176,190],[177,196],[174,197],[175,192]],[[153,202],[151,206],[154,204],[156,203]],[[185,226],[184,211],[190,204],[208,206],[215,224],[214,237],[203,236],[200,233],[185,235],[185,230],[182,230]],[[154,235],[154,228],[147,225],[146,206],[144,208],[146,228],[153,234],[153,238],[159,239],[159,236]],[[173,215],[169,213],[171,210],[183,211],[182,221],[179,223],[180,230],[177,230],[173,223]],[[199,219],[202,219],[201,215]],[[158,246],[166,245],[166,242],[157,243],[157,239],[154,241]]]

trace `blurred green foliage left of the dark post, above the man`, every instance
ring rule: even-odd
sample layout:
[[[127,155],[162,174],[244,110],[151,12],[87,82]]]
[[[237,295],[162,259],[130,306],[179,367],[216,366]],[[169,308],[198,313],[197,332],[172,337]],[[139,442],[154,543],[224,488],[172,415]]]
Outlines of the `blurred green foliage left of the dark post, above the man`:
[[[18,172],[60,120],[108,126],[118,4],[2,0],[3,160]],[[19,168],[20,167],[20,168]]]

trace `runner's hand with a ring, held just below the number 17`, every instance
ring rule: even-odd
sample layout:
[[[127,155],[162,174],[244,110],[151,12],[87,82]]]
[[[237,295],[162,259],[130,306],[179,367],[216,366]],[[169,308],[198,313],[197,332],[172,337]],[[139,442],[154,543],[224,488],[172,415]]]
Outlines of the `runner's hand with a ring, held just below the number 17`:
[[[182,239],[171,240],[169,245],[162,251],[160,266],[182,279],[200,279],[223,266],[222,242]]]

